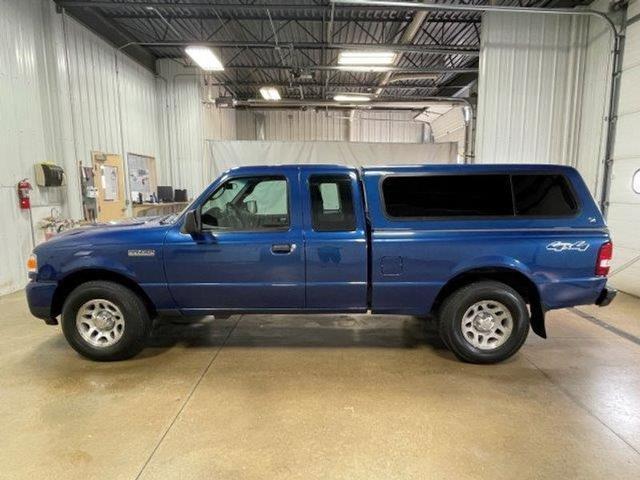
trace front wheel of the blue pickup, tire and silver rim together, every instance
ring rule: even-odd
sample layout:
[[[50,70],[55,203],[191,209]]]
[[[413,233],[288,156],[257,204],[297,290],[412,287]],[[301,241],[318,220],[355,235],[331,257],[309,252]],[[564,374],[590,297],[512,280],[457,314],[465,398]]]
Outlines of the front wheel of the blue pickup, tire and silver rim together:
[[[144,348],[151,328],[138,295],[114,282],[76,287],[62,308],[62,331],[81,355],[97,361],[124,360]]]

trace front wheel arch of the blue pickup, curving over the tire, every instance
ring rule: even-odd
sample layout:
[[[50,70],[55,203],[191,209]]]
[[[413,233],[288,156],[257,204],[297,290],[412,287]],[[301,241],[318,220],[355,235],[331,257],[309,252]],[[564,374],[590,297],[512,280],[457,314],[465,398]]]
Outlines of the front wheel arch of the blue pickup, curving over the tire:
[[[58,287],[53,294],[53,301],[51,305],[51,313],[53,317],[57,317],[62,313],[62,307],[69,294],[78,286],[90,281],[107,281],[117,283],[123,287],[133,291],[136,295],[142,299],[149,315],[155,316],[156,310],[153,302],[147,295],[147,293],[138,285],[133,279],[113,270],[104,268],[87,268],[76,270],[69,273],[63,279],[58,282]]]

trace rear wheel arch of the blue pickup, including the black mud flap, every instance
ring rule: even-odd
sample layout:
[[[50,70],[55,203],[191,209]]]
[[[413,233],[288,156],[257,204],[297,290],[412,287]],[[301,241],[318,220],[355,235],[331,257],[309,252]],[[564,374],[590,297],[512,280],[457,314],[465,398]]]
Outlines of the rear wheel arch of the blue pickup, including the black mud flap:
[[[531,329],[542,338],[547,338],[544,324],[545,311],[536,284],[523,272],[509,267],[479,267],[458,273],[440,289],[431,307],[436,314],[444,300],[456,290],[482,280],[493,280],[515,289],[531,309]]]

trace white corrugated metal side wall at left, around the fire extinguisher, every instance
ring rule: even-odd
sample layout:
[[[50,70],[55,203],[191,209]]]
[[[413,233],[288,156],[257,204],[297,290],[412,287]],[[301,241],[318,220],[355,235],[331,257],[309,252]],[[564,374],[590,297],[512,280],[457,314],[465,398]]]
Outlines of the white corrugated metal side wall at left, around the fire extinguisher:
[[[90,164],[92,150],[158,156],[154,76],[121,54],[117,75],[115,55],[77,22],[63,22],[49,0],[0,3],[0,222],[12,226],[0,230],[0,294],[26,282],[32,222],[15,189],[33,179],[35,163],[67,173],[66,187],[35,187],[37,242],[37,222],[52,208],[81,217],[78,162]]]

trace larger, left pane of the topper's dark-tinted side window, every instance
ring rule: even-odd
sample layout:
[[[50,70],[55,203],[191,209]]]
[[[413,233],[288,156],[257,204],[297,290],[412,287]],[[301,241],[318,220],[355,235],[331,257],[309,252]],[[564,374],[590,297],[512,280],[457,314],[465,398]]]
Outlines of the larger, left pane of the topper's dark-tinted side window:
[[[387,177],[382,193],[395,218],[513,215],[509,175]]]

